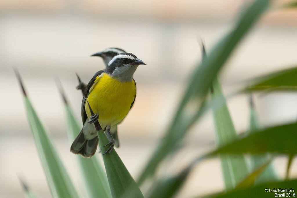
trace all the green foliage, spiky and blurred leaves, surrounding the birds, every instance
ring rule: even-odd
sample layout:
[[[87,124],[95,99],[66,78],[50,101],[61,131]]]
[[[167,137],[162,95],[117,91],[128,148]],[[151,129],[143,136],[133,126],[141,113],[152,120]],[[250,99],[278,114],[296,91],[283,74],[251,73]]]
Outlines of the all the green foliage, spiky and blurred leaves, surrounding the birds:
[[[271,182],[276,178],[271,167],[271,155],[267,155],[267,153],[273,155],[286,154],[290,156],[289,159],[293,159],[297,152],[297,139],[295,136],[297,124],[291,123],[260,129],[257,125],[255,109],[252,106],[250,130],[244,133],[244,137],[238,137],[228,111],[226,99],[217,80],[220,69],[225,65],[238,43],[259,20],[269,5],[269,0],[257,0],[250,3],[231,31],[215,45],[207,57],[203,57],[202,63],[195,67],[189,77],[189,84],[178,105],[173,121],[151,159],[143,168],[138,184],[131,177],[115,150],[103,156],[106,174],[96,157],[83,159],[76,156],[82,172],[81,183],[84,183],[85,186],[84,197],[144,197],[139,186],[145,181],[149,182],[147,179],[155,175],[159,165],[165,159],[170,160],[170,157],[178,152],[188,129],[209,107],[212,107],[214,113],[218,148],[203,156],[198,156],[176,175],[155,178],[157,182],[150,183],[147,197],[165,198],[175,196],[197,163],[217,156],[222,161],[226,189],[224,192],[210,195],[210,197],[271,197],[273,193],[265,192],[265,189],[288,189],[297,186],[296,180]],[[205,55],[204,46],[203,52]],[[23,90],[32,134],[52,196],[61,198],[80,197],[53,146],[53,141],[35,113],[18,73],[17,76]],[[252,80],[244,91],[296,90],[296,79],[297,69],[286,69]],[[208,101],[208,92],[211,85],[213,85],[213,94],[211,94],[211,100]],[[80,125],[75,120],[75,116],[63,93],[62,95],[66,108],[69,140],[72,142],[80,131]],[[189,111],[189,106],[191,106],[191,111]],[[109,142],[108,138],[102,130],[99,130],[97,134],[99,147],[102,152],[105,152],[107,148],[103,147],[103,145]],[[252,171],[247,168],[245,153],[253,155],[251,156]],[[291,161],[289,160],[289,162]],[[289,168],[290,163],[287,172],[289,172]],[[259,180],[257,180],[258,178]],[[269,183],[262,184],[262,182]],[[34,196],[27,191],[25,193],[28,197]]]

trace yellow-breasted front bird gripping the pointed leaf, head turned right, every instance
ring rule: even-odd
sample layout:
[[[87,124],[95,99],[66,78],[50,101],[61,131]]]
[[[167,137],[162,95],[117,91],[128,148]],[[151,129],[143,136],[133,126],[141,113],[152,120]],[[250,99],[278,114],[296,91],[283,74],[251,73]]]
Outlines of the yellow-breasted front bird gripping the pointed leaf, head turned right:
[[[136,83],[133,74],[138,65],[145,65],[131,53],[121,53],[114,56],[105,70],[97,72],[84,91],[81,105],[83,128],[71,145],[70,151],[83,157],[95,154],[98,145],[98,136],[94,123],[96,120],[109,139],[108,150],[114,146],[110,129],[119,123],[129,112],[135,101]],[[95,113],[91,116],[88,101]],[[104,155],[103,153],[102,155]]]

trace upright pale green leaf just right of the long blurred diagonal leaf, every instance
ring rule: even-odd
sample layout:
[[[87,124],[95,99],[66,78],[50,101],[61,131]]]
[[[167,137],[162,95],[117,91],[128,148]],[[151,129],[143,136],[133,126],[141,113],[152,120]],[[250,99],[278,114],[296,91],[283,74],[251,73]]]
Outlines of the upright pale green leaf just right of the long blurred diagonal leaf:
[[[211,92],[212,100],[215,100],[217,97],[223,98],[221,86],[219,85],[217,78],[214,80]],[[218,145],[224,145],[236,139],[237,134],[233,126],[226,100],[224,104],[213,108],[213,114]],[[227,190],[233,189],[249,173],[246,160],[242,154],[237,156],[221,155],[220,159],[225,188]]]

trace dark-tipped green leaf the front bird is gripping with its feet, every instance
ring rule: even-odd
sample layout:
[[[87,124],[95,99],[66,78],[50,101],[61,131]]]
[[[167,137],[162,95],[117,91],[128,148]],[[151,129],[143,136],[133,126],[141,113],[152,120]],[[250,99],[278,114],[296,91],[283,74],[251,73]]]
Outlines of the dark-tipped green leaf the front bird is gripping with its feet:
[[[89,109],[90,109],[91,115],[94,115],[90,105],[89,105]],[[101,152],[105,153],[109,148],[109,145],[105,146],[109,143],[109,140],[106,137],[103,130],[101,129],[101,126],[98,120],[94,123],[94,125],[99,137],[99,147],[101,149]],[[119,155],[116,153],[114,149],[111,150],[111,152],[109,151],[105,155],[103,155],[103,161],[105,165],[105,171],[107,174],[111,195],[113,198],[143,197],[143,194],[140,191],[135,180],[132,178],[129,171],[125,167],[123,161],[120,159]]]

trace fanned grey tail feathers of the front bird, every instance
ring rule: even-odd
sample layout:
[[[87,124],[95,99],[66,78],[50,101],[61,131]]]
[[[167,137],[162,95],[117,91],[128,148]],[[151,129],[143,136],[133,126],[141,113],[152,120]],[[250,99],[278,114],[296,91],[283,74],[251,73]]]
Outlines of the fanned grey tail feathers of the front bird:
[[[80,154],[83,157],[92,157],[97,150],[98,146],[98,136],[91,140],[86,140],[83,134],[83,129],[79,132],[78,136],[73,141],[70,152],[74,154]]]

